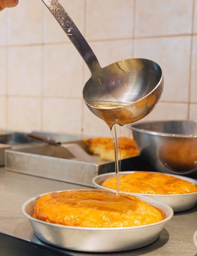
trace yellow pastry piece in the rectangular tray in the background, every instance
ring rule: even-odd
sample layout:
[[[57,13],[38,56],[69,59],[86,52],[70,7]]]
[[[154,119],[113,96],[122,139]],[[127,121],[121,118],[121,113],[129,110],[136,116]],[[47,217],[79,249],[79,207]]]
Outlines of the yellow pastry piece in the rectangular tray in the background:
[[[121,146],[121,159],[127,157],[138,156],[140,154],[134,139],[122,137],[117,139],[118,142],[118,155],[120,157]],[[101,160],[114,161],[114,143],[112,138],[93,138],[85,140],[87,150],[93,155],[99,155]]]

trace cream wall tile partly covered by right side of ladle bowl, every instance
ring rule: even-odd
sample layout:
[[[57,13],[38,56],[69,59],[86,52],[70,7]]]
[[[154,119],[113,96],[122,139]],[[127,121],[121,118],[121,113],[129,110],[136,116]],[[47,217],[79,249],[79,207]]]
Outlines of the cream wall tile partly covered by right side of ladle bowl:
[[[164,73],[164,91],[161,100],[188,101],[189,36],[159,37],[135,40],[136,58],[156,61]]]

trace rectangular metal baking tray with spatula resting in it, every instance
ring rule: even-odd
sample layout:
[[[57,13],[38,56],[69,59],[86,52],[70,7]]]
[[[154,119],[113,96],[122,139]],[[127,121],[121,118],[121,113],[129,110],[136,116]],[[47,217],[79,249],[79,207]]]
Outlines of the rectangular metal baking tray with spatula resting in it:
[[[79,145],[82,143],[78,141]],[[6,150],[5,168],[12,172],[94,187],[92,179],[99,174],[115,172],[115,164],[93,157],[94,163],[77,161],[66,148],[41,143]],[[121,164],[127,166],[129,162],[130,158],[127,158]]]

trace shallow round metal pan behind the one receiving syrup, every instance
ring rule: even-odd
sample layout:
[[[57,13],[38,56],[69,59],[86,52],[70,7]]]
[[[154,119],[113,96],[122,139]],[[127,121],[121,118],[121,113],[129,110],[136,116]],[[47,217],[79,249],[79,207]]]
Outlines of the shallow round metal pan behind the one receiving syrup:
[[[130,173],[135,173],[135,171],[134,172],[121,172],[120,175],[121,174],[130,174]],[[152,172],[152,173],[156,173],[156,172]],[[162,173],[162,174],[164,174],[164,173]],[[115,173],[101,174],[101,175],[94,177],[92,181],[93,181],[93,184],[97,188],[116,191],[114,189],[110,189],[110,188],[101,186],[101,184],[104,180],[106,180],[108,178],[112,178],[115,175],[116,175]],[[197,180],[194,180],[194,179],[191,179],[188,177],[173,175],[173,174],[166,174],[166,175],[170,175],[170,176],[173,176],[176,178],[187,180],[187,181],[197,185]],[[133,193],[129,193],[126,191],[121,191],[121,193],[133,195]],[[135,195],[141,195],[141,196],[145,196],[145,197],[151,197],[156,200],[160,200],[160,201],[168,204],[173,209],[174,212],[189,210],[189,209],[193,208],[197,203],[197,192],[189,193],[189,194],[180,194],[180,195],[151,195],[151,194],[138,194],[138,193],[135,193]]]

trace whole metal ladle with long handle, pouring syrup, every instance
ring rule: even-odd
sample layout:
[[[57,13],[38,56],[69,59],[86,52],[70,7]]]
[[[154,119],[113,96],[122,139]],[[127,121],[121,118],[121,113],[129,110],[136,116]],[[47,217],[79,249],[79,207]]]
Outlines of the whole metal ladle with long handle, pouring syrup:
[[[135,122],[147,115],[163,90],[163,73],[159,65],[148,59],[134,58],[101,68],[89,44],[60,3],[57,0],[42,2],[54,15],[91,71],[92,76],[83,88],[83,99],[90,110],[89,102],[94,101],[132,104],[133,114],[126,121],[120,120],[119,124]],[[96,115],[101,118],[99,114]]]

